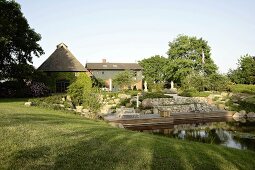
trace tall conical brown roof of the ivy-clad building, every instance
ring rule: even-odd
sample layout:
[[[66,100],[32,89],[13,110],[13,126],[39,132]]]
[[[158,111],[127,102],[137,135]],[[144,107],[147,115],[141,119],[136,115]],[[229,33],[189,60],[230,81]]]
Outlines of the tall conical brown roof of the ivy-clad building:
[[[74,57],[64,43],[42,63],[38,70],[46,72],[87,72],[87,69]]]

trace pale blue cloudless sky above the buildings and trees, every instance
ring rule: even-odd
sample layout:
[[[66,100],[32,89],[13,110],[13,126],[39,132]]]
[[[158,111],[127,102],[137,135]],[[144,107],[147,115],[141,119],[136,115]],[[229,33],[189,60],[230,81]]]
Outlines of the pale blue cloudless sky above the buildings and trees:
[[[166,55],[179,34],[202,37],[222,73],[255,55],[254,0],[17,0],[45,55],[64,42],[82,63]]]

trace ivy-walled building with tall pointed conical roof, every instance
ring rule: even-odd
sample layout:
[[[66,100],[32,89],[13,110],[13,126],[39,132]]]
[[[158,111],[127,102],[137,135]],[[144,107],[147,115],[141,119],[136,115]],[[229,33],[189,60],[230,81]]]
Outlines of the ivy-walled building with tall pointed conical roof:
[[[57,49],[38,70],[47,73],[48,79],[51,81],[49,86],[53,92],[57,93],[65,92],[80,72],[85,72],[90,76],[88,70],[75,58],[64,43],[57,45]]]

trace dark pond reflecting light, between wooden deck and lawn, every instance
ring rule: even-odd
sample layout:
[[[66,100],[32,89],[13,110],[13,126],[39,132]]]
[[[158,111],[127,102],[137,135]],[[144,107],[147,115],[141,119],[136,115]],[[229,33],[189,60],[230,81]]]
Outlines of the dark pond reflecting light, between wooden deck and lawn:
[[[255,120],[217,122],[185,122],[167,129],[144,130],[180,140],[219,144],[231,148],[255,151]]]

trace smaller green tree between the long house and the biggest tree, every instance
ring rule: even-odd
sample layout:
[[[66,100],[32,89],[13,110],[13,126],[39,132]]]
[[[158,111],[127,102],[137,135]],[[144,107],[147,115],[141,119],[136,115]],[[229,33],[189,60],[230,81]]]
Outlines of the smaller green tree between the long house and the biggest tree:
[[[162,82],[165,79],[165,73],[162,69],[167,62],[167,58],[155,55],[150,58],[139,61],[143,67],[143,75],[145,80],[152,82]]]

